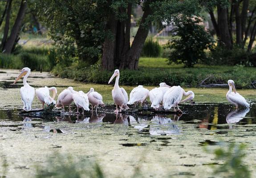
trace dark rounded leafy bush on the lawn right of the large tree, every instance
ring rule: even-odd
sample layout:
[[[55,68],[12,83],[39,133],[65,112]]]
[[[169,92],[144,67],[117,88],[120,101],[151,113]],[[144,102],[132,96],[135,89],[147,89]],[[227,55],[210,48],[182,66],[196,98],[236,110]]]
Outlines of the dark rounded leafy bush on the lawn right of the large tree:
[[[214,40],[211,35],[199,25],[198,18],[188,18],[178,23],[173,32],[180,38],[171,39],[165,46],[170,48],[170,62],[184,64],[185,67],[192,67],[199,61],[206,59],[204,50],[213,47]]]

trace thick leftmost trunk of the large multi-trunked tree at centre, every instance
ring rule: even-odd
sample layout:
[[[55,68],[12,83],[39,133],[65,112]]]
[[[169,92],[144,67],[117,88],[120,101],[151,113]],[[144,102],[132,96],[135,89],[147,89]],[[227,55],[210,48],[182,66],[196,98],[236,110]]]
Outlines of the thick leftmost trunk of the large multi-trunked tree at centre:
[[[112,36],[107,36],[103,44],[102,68],[104,70],[113,70],[117,34],[117,21],[115,20],[114,14],[109,16],[106,30],[109,30],[112,33]]]

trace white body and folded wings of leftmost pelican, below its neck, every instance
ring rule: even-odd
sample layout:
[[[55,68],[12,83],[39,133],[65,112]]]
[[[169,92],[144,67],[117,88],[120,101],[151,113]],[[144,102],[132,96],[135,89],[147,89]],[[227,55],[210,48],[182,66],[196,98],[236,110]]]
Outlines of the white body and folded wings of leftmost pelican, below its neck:
[[[23,109],[30,111],[32,109],[32,101],[35,96],[35,89],[29,85],[20,88],[21,100],[23,101]]]

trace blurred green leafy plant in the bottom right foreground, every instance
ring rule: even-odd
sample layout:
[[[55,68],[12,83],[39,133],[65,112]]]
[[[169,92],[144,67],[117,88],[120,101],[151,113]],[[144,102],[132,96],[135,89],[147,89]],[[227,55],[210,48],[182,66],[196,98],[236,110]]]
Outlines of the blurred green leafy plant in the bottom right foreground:
[[[250,178],[251,174],[248,167],[244,165],[243,159],[246,146],[244,144],[236,145],[231,143],[228,147],[221,146],[213,152],[207,150],[208,153],[215,154],[215,160],[223,161],[221,166],[215,168],[215,174],[220,177],[228,178]]]

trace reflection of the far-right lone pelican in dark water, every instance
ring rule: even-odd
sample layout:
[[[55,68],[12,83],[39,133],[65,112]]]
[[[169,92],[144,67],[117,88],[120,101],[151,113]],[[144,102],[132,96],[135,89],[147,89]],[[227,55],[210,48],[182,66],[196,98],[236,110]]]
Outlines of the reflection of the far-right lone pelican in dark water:
[[[249,111],[250,111],[249,108],[236,109],[235,111],[228,113],[226,117],[226,121],[228,124],[237,123],[240,120],[244,119],[244,117]],[[232,129],[232,125],[230,125],[229,128]]]

